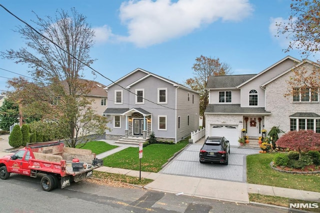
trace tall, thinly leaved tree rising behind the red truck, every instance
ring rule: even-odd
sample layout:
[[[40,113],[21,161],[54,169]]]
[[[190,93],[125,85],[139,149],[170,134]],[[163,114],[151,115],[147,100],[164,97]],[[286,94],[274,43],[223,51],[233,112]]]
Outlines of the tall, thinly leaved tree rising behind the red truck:
[[[66,145],[75,147],[79,140],[88,141],[88,135],[103,133],[107,120],[94,113],[92,100],[87,97],[92,83],[82,79],[85,66],[94,61],[89,55],[94,31],[86,17],[74,8],[70,12],[61,9],[54,17],[45,18],[35,14],[32,22],[37,31],[29,26],[16,29],[25,47],[1,55],[28,64],[34,79],[18,77],[8,81],[15,89],[9,96],[23,106],[23,115],[55,123]]]

